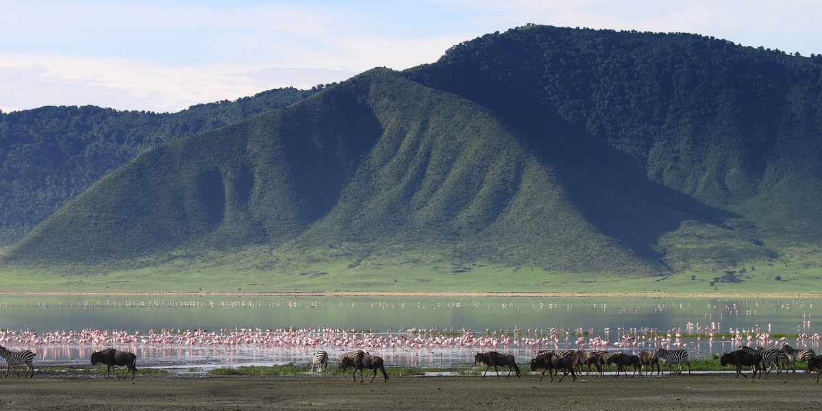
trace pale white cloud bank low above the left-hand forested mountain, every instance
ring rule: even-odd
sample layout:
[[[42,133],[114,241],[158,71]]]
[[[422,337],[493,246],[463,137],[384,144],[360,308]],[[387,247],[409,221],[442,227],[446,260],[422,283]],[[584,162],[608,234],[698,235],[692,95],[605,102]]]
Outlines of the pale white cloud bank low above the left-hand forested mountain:
[[[192,104],[238,99],[262,90],[343,81],[345,69],[210,64],[158,66],[128,58],[0,55],[0,109],[95,104],[176,112]]]

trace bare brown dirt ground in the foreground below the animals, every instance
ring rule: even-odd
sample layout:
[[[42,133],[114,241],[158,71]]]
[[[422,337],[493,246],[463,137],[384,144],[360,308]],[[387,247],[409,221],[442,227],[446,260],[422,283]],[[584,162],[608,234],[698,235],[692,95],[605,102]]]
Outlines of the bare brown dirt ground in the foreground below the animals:
[[[820,409],[815,374],[396,377],[369,384],[343,377],[0,378],[0,409]]]

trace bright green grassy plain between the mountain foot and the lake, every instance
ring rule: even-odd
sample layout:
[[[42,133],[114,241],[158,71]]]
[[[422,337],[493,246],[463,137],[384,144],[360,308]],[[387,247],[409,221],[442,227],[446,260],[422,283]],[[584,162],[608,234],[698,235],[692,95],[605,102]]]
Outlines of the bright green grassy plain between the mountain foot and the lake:
[[[371,256],[356,265],[303,252],[280,252],[273,258],[269,249],[261,248],[179,258],[169,255],[164,261],[154,261],[155,265],[132,269],[78,264],[33,269],[6,266],[0,267],[0,279],[5,293],[822,295],[819,255],[806,249],[740,268],[735,270],[736,282],[713,286],[711,282],[726,272],[724,268],[644,276],[499,266],[413,252]]]

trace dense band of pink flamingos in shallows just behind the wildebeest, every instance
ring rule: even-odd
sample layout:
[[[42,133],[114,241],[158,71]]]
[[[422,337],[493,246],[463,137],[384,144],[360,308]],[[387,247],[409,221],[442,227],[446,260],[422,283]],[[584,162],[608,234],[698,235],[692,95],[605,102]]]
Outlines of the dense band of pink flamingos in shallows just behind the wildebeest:
[[[761,345],[764,347],[781,346],[786,337],[771,339],[765,330],[730,329],[722,332],[718,323],[709,326],[688,323],[685,327],[689,333],[683,340],[682,328],[659,331],[649,328],[608,328],[601,331],[593,329],[548,329],[536,332],[514,330],[485,330],[473,332],[469,329],[439,330],[409,328],[393,332],[374,332],[373,330],[346,330],[339,328],[298,328],[298,329],[261,329],[236,328],[219,331],[154,329],[142,333],[139,330],[56,330],[39,335],[29,330],[0,330],[0,344],[20,349],[35,350],[39,347],[76,347],[99,349],[104,347],[139,346],[142,348],[221,348],[221,349],[333,349],[364,351],[426,351],[441,349],[456,350],[499,350],[506,348],[533,349],[567,348],[575,346],[583,349],[645,349],[645,348],[692,348],[695,349],[704,339],[713,344],[716,338],[732,344]],[[598,333],[599,334],[599,333]],[[612,341],[612,334],[614,340]],[[593,336],[586,336],[593,335]],[[797,340],[820,341],[822,336],[799,335]]]

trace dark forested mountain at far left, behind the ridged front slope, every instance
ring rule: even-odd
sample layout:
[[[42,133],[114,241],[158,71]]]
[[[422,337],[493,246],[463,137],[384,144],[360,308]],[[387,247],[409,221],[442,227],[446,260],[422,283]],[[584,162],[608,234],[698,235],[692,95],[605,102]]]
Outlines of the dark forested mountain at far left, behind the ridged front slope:
[[[285,107],[316,91],[268,90],[235,101],[197,104],[179,113],[91,105],[0,112],[0,246],[19,240],[145,150]]]

